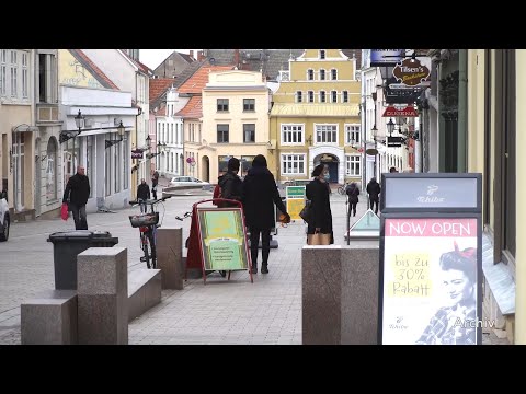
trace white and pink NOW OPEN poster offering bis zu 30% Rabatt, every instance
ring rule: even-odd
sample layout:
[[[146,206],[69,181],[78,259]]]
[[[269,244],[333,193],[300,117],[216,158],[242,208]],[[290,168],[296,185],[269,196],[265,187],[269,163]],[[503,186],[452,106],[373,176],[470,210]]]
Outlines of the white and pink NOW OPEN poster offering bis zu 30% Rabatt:
[[[381,343],[476,345],[478,219],[384,221]]]

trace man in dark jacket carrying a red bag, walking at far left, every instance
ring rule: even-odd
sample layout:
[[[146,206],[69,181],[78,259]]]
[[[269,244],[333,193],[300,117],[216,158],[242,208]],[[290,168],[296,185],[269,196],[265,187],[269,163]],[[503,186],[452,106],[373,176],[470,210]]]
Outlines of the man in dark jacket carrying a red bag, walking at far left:
[[[62,202],[68,202],[69,200],[76,230],[88,230],[85,204],[88,198],[90,198],[90,181],[84,175],[84,172],[85,169],[82,165],[77,166],[77,174],[69,178],[62,197]]]

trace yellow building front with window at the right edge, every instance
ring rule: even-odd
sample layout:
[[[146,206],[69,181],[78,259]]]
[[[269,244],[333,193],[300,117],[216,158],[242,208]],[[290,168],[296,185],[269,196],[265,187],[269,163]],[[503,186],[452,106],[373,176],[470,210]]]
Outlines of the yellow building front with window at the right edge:
[[[526,344],[526,50],[467,51],[468,172],[482,173],[484,309]]]

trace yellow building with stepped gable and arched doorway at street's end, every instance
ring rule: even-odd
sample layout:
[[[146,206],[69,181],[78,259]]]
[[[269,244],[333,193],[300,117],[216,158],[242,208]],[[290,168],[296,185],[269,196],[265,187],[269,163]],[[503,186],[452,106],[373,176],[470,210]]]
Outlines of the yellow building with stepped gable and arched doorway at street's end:
[[[340,49],[306,49],[291,58],[270,115],[275,153],[267,160],[276,179],[308,179],[327,163],[332,183],[359,183],[359,100],[355,58]]]

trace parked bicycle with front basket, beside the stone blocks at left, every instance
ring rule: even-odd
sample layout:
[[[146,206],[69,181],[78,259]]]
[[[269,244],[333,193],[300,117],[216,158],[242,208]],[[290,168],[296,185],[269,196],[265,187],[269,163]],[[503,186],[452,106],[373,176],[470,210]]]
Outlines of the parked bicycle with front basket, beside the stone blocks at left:
[[[132,223],[132,227],[139,229],[140,248],[145,253],[145,255],[140,257],[140,260],[146,263],[148,269],[157,268],[157,229],[161,227],[161,224],[159,224],[159,212],[156,211],[155,206],[159,202],[163,202],[170,197],[171,196],[167,196],[160,199],[141,201],[141,204],[150,206],[150,211],[147,213],[129,216],[129,222]],[[138,201],[129,201],[129,204],[134,207],[139,205]],[[164,218],[164,212],[162,213],[162,217]]]

